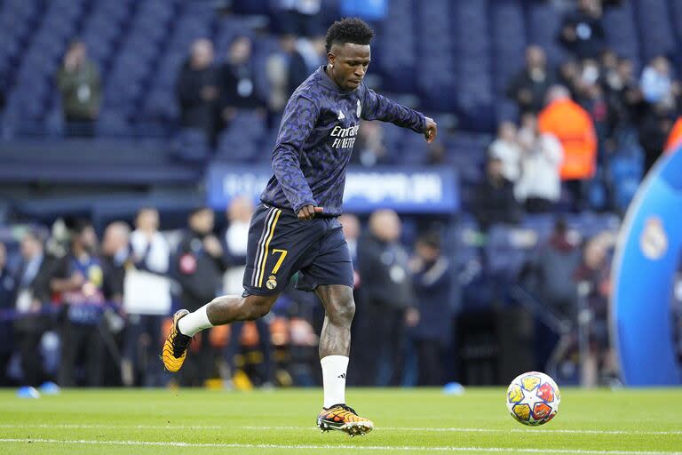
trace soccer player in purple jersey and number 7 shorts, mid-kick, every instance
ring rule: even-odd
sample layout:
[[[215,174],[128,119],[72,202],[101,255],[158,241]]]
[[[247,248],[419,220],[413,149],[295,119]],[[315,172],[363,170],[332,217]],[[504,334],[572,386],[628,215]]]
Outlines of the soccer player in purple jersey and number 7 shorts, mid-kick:
[[[366,434],[374,424],[345,404],[355,312],[353,265],[337,220],[346,165],[361,119],[410,128],[428,142],[437,132],[431,118],[363,83],[373,36],[359,19],[329,27],[327,65],[297,88],[284,110],[273,151],[274,176],[251,219],[242,296],[218,297],[194,313],[179,310],[162,354],[166,369],[178,371],[195,333],[266,315],[289,278],[299,272],[297,288],[315,291],[325,309],[320,337],[324,403],[317,426],[352,436]]]

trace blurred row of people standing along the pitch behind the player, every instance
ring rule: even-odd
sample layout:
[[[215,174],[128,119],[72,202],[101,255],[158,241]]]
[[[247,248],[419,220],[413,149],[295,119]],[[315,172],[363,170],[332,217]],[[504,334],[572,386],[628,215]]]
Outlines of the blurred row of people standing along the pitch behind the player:
[[[101,241],[87,220],[58,220],[49,235],[40,228],[18,230],[18,244],[0,243],[0,384],[318,385],[323,309],[314,294],[293,285],[265,318],[194,337],[177,377],[164,373],[158,360],[174,310],[194,310],[217,295],[242,292],[253,210],[250,199],[238,197],[223,223],[199,207],[185,229],[162,232],[158,212],[146,208],[132,228],[125,221],[109,223]],[[438,225],[406,236],[400,217],[388,209],[366,220],[345,214],[341,222],[353,256],[358,307],[349,383],[495,383],[488,367],[499,359],[467,355],[481,337],[468,318],[497,318],[507,312],[501,308],[509,308],[508,302],[495,303],[499,296],[486,297],[508,284],[481,272],[485,264],[472,271],[472,262],[484,256],[458,260]],[[607,336],[613,243],[613,233],[583,242],[558,220],[546,242],[535,245],[518,282],[541,303],[504,327],[532,324],[539,313],[549,317],[540,323],[556,333],[531,331],[515,362],[550,365],[569,378],[580,364],[582,376],[574,379],[585,385],[614,377]],[[480,299],[489,301],[477,307]],[[557,321],[559,329],[552,326]],[[504,344],[504,335],[496,336]],[[550,350],[533,352],[537,347]]]

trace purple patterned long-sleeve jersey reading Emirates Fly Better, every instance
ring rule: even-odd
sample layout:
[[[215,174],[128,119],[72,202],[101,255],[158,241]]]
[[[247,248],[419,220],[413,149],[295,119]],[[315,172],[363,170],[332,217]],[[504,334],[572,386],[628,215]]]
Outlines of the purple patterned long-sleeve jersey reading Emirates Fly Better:
[[[318,68],[291,95],[273,151],[274,176],[260,199],[298,212],[305,205],[341,214],[345,169],[360,120],[381,120],[425,131],[422,114],[370,90],[345,92]]]

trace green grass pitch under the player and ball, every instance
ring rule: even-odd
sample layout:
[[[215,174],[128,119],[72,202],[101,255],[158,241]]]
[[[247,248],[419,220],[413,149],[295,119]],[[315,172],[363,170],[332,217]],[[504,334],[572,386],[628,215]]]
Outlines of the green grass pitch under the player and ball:
[[[0,454],[682,454],[682,389],[562,390],[544,427],[508,415],[503,388],[350,389],[376,429],[314,428],[320,389],[0,391]]]

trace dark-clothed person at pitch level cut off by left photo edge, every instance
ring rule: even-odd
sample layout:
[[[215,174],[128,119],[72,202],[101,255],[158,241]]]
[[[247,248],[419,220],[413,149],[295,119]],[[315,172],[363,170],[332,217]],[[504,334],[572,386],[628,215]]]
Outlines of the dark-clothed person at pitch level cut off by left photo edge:
[[[14,309],[15,285],[7,267],[7,248],[0,242],[0,387],[11,385],[7,367],[12,358],[14,343],[10,314]]]

